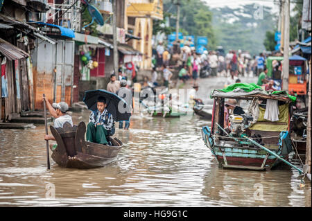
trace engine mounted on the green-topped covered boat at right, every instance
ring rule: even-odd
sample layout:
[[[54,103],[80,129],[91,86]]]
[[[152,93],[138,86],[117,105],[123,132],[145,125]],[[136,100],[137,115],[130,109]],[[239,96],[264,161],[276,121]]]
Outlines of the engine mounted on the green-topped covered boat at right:
[[[252,121],[252,116],[236,115],[232,114],[229,116],[229,129],[231,130],[231,135],[239,137],[245,130],[249,127],[250,121]]]

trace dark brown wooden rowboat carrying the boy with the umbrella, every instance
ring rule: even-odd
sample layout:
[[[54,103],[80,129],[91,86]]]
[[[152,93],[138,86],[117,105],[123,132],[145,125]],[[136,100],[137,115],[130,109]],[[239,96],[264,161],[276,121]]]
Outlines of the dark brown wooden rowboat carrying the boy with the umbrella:
[[[85,141],[86,125],[82,121],[71,127],[50,126],[51,133],[58,143],[52,153],[52,159],[59,166],[66,168],[96,168],[106,166],[116,160],[123,143],[119,139],[108,138],[112,145],[103,145]]]

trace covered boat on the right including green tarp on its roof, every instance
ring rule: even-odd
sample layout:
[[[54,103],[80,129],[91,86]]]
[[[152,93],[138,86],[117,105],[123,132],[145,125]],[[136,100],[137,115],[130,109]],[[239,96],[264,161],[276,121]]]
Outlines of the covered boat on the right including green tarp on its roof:
[[[230,85],[211,91],[214,99],[211,128],[202,127],[202,139],[219,166],[269,170],[281,160],[286,162],[293,151],[290,136],[291,106],[295,97],[285,91],[263,91],[254,84]],[[231,114],[230,125],[225,123],[225,99],[236,99],[245,114]],[[264,119],[266,103],[277,100],[279,120]],[[242,105],[245,102],[245,107]],[[254,103],[257,102],[257,103]],[[259,117],[250,116],[250,105],[259,105]],[[288,162],[286,162],[288,163]],[[290,165],[290,163],[289,163]]]

